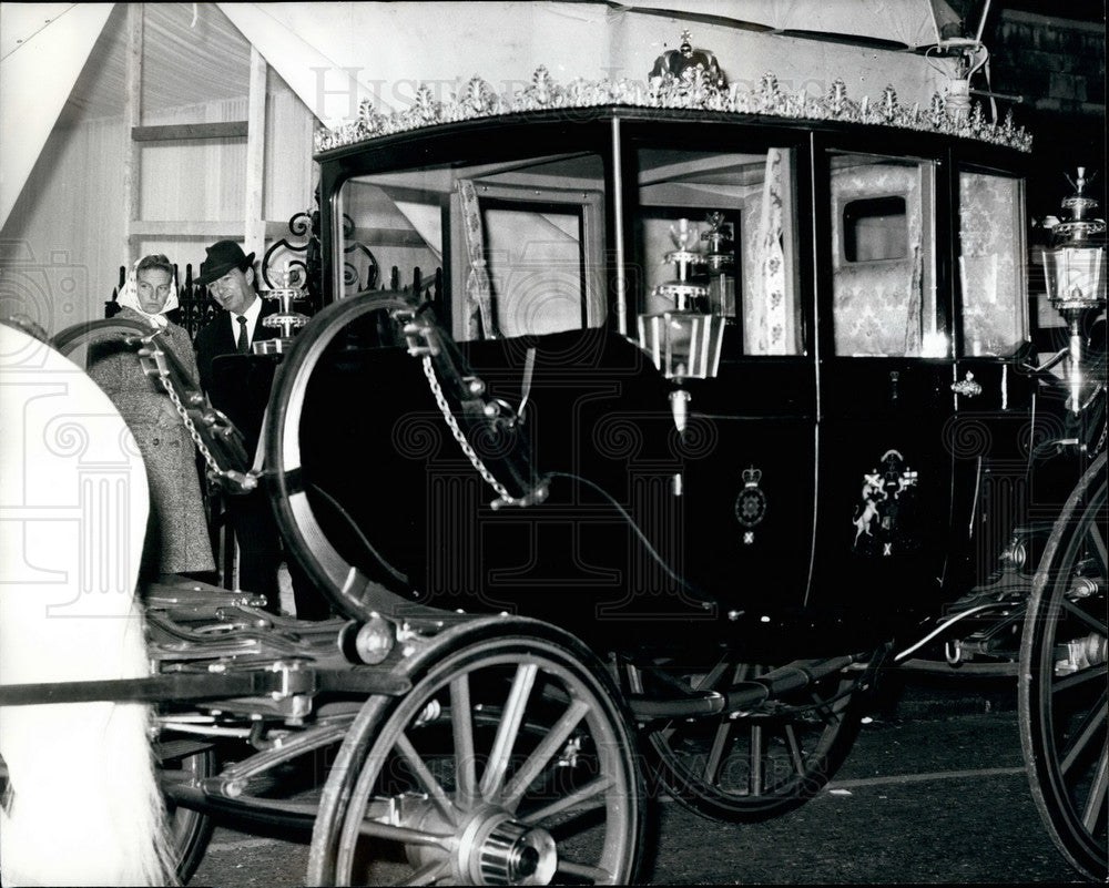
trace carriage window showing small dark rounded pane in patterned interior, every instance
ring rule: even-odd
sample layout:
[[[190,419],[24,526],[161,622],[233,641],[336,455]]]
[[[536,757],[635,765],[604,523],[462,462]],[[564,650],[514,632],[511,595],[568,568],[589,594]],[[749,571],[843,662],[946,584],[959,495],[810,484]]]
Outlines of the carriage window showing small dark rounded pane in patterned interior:
[[[849,357],[944,357],[936,298],[934,166],[832,157],[835,350]]]

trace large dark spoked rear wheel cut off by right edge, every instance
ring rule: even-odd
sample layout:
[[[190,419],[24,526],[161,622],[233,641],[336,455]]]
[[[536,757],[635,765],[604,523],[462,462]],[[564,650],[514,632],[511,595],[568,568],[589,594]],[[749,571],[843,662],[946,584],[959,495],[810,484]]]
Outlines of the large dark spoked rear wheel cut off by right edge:
[[[1106,456],[1064,508],[1036,574],[1020,646],[1020,742],[1048,833],[1107,876]]]

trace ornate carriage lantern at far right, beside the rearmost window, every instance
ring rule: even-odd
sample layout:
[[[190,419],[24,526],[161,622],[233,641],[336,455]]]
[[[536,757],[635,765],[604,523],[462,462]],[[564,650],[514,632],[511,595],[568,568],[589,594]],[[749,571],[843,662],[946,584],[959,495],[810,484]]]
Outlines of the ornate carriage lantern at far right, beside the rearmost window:
[[[1082,327],[1106,307],[1106,223],[1092,218],[1098,202],[1083,194],[1089,182],[1086,167],[1079,166],[1077,181],[1071,181],[1075,194],[1062,201],[1070,218],[1054,227],[1052,246],[1044,251],[1047,296],[1066,319],[1070,336],[1068,407],[1075,412],[1081,409]]]

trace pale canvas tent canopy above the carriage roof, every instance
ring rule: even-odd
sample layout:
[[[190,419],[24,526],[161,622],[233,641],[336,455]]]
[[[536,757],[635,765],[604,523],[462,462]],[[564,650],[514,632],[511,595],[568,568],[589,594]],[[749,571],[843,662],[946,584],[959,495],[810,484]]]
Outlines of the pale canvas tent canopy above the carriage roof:
[[[89,118],[122,115],[125,29],[102,33],[110,20],[125,22],[112,16],[115,6],[0,3],[0,224],[67,102]],[[956,19],[943,0],[215,6],[222,16],[205,4],[146,4],[144,111],[244,94],[252,45],[322,123],[335,126],[364,100],[395,111],[420,83],[446,94],[474,74],[497,89],[527,81],[540,65],[560,81],[643,80],[685,28],[732,81],[772,71],[787,89],[815,91],[840,76],[855,95],[892,83],[913,102],[943,81],[922,74],[928,69],[914,51],[935,44]],[[844,42],[798,51],[801,32]],[[871,44],[861,49],[858,41]],[[74,94],[87,68],[95,76],[82,78],[87,91]]]

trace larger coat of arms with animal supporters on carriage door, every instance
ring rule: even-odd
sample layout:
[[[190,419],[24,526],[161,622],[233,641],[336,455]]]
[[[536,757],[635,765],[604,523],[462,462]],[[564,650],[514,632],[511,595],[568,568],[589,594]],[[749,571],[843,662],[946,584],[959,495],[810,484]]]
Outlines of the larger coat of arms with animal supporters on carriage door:
[[[855,507],[852,551],[887,557],[916,549],[917,472],[897,450],[887,450],[878,468],[863,474],[862,501]]]

